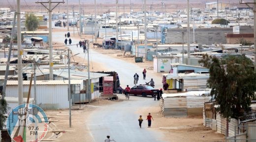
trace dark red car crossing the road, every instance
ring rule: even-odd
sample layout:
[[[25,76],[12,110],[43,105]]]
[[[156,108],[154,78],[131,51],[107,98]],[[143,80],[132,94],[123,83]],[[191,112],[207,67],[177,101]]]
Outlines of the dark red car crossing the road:
[[[144,97],[146,97],[147,95],[151,95],[153,97],[154,95],[157,95],[158,92],[158,89],[155,89],[148,85],[138,85],[130,89],[130,95],[142,95]]]

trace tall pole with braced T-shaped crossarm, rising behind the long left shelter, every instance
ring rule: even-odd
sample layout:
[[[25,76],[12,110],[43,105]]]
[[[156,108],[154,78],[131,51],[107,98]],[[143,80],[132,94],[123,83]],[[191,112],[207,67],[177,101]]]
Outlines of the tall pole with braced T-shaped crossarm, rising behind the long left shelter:
[[[52,43],[52,11],[55,7],[57,7],[60,3],[64,3],[64,0],[61,2],[52,2],[52,0],[49,0],[49,2],[35,2],[35,3],[41,3],[49,12],[49,80],[53,80],[53,43]],[[44,3],[49,3],[49,8],[47,8]],[[57,3],[52,8],[52,3]],[[68,27],[68,25],[67,25]]]

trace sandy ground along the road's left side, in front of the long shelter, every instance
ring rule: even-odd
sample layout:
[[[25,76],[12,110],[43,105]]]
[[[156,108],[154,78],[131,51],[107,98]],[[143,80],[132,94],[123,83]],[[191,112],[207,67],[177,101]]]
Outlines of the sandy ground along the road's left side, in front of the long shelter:
[[[118,100],[120,101],[120,100]],[[50,121],[50,130],[45,140],[60,142],[93,142],[90,132],[86,126],[86,120],[93,111],[98,107],[117,103],[115,100],[99,99],[94,100],[91,104],[72,106],[71,119],[72,126],[69,127],[69,110],[47,110],[45,111]],[[51,130],[63,130],[64,133],[51,133]]]

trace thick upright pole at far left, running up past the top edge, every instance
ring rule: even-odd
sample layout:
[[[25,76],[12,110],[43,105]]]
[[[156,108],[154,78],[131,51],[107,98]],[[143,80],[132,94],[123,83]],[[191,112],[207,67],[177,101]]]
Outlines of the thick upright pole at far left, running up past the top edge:
[[[15,23],[15,22],[14,22]],[[23,104],[23,75],[22,75],[22,55],[21,50],[21,6],[20,0],[17,0],[17,44],[18,44],[18,93],[19,104]]]

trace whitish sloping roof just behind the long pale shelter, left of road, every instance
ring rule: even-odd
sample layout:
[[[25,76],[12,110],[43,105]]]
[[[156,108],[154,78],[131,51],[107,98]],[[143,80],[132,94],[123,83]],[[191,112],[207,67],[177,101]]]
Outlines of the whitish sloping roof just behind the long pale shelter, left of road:
[[[53,74],[55,74],[57,76],[64,77],[64,78],[68,78],[68,70],[67,69],[53,71]],[[99,78],[99,77],[108,76],[108,75],[109,74],[106,74],[106,73],[90,72],[90,79]],[[88,79],[88,72],[70,70],[70,78],[71,79],[87,80]]]

